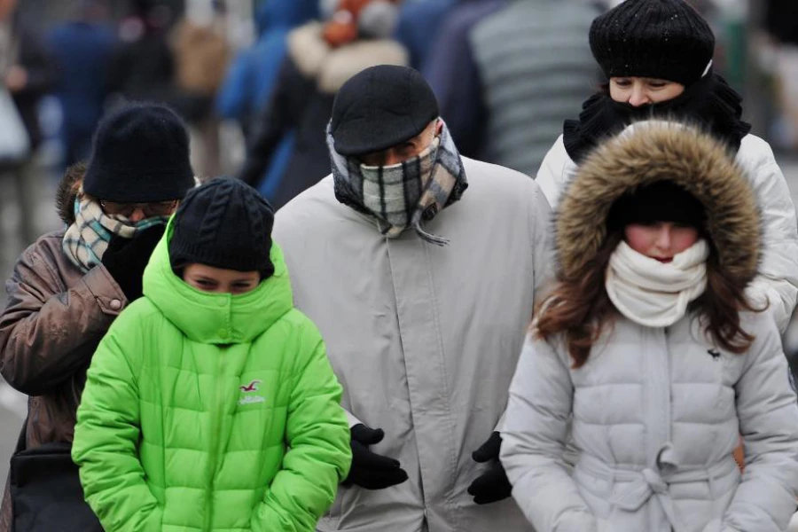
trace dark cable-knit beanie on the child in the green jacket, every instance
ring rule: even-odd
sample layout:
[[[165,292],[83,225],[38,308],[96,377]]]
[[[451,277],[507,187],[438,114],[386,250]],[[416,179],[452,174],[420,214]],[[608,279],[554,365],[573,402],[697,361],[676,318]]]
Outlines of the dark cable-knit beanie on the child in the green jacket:
[[[217,177],[186,194],[173,220],[173,270],[198,262],[214,268],[274,274],[270,260],[274,210],[248,184]]]

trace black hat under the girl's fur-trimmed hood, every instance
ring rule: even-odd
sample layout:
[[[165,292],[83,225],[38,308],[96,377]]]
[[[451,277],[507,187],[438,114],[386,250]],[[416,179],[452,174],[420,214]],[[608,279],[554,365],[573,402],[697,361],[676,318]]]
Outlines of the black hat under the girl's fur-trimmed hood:
[[[606,226],[612,232],[630,223],[673,222],[703,231],[706,220],[703,204],[690,192],[671,181],[657,181],[616,200]]]

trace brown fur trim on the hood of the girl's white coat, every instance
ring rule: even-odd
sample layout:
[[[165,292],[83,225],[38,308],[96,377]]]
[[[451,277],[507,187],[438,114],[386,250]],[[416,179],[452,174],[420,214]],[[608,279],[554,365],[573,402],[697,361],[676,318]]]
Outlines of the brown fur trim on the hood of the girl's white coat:
[[[639,186],[668,180],[692,193],[707,213],[721,267],[740,286],[755,277],[760,215],[743,170],[713,137],[677,122],[644,121],[611,138],[583,161],[556,215],[561,278],[580,278],[606,238],[610,207]]]

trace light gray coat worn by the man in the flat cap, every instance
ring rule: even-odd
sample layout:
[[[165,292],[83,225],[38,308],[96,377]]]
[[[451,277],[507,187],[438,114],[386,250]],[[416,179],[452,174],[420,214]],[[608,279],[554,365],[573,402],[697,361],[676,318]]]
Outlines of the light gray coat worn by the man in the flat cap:
[[[529,531],[512,499],[478,506],[472,452],[497,429],[536,302],[551,270],[550,210],[527,176],[464,159],[469,187],[425,229],[380,235],[340,204],[332,178],[278,211],[298,309],[325,338],[350,423],[382,428],[372,450],[409,481],[341,488],[318,528],[353,532]]]

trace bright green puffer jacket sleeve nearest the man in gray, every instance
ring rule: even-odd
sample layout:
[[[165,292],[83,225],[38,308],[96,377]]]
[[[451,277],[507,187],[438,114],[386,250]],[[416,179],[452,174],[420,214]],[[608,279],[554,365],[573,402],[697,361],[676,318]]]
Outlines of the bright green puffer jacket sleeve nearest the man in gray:
[[[254,512],[254,532],[312,532],[349,473],[352,452],[341,388],[316,337],[309,361],[299,368],[288,405],[282,469]]]

